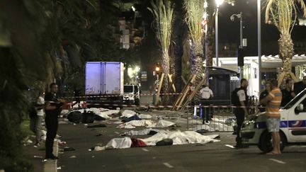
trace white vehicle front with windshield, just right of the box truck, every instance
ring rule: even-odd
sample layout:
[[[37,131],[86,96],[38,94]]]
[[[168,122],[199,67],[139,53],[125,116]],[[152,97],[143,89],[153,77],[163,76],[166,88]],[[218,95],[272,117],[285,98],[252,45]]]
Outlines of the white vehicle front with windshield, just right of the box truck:
[[[140,105],[140,86],[125,84],[123,86],[123,103]]]

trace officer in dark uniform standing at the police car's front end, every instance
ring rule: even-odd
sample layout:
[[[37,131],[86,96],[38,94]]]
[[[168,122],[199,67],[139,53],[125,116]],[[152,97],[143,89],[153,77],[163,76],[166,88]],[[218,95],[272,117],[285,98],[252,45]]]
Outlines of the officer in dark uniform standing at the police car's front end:
[[[240,87],[232,91],[232,104],[236,106],[234,108],[234,115],[237,120],[237,137],[236,137],[236,148],[242,148],[242,137],[240,130],[244,122],[244,117],[248,115],[246,105],[248,104],[249,96],[246,93],[246,89],[249,86],[249,82],[246,79],[240,80]]]

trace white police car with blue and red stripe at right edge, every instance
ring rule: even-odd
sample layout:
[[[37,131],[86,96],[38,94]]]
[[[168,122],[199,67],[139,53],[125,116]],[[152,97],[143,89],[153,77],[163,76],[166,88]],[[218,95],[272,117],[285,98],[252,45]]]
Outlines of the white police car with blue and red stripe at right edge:
[[[306,144],[306,89],[280,109],[280,150],[285,145]],[[263,152],[273,149],[265,113],[249,116],[242,125],[242,143],[257,145]]]

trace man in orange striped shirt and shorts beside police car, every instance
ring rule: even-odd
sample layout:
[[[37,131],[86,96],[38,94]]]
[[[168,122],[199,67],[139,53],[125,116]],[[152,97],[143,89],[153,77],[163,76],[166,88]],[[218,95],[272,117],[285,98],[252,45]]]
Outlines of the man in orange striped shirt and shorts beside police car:
[[[273,140],[273,150],[268,152],[269,155],[277,155],[280,153],[280,103],[282,100],[282,93],[278,88],[278,81],[276,79],[271,80],[272,91],[263,98],[261,103],[266,104],[266,126],[268,127],[268,132],[272,133]]]

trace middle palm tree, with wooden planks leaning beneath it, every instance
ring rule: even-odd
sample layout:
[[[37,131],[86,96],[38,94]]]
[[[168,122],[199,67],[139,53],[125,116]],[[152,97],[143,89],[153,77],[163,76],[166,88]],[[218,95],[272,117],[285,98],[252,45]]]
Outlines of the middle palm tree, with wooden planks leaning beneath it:
[[[203,21],[204,0],[184,0],[185,21],[189,30],[191,74],[197,75],[197,82],[203,74],[203,32],[200,22]]]

